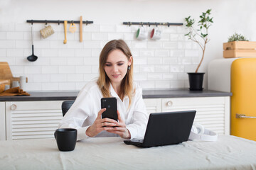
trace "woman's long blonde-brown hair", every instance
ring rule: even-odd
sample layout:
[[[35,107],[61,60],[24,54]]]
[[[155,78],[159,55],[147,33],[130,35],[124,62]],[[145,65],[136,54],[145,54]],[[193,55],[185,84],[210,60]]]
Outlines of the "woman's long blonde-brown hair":
[[[128,45],[124,42],[124,40],[111,40],[107,42],[105,47],[103,47],[100,52],[100,60],[99,60],[99,71],[100,76],[97,79],[97,84],[102,91],[103,97],[111,97],[110,96],[110,78],[107,77],[105,72],[105,64],[107,62],[107,57],[113,50],[121,50],[124,52],[124,55],[127,56],[127,60],[132,56],[131,51],[129,50]],[[127,68],[128,69],[128,68]],[[121,82],[121,89],[119,92],[119,98],[123,101],[124,96],[128,96],[129,98],[129,106],[132,103],[132,94],[133,94],[133,60],[130,66],[130,69],[127,70],[127,74],[124,76]]]

